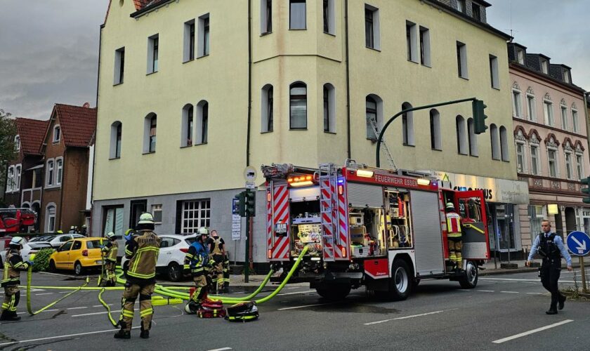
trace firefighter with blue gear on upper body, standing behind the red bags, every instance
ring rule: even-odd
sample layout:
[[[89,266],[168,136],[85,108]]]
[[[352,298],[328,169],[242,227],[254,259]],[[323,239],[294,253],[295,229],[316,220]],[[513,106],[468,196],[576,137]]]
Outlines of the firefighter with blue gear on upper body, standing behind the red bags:
[[[185,312],[197,313],[201,304],[207,297],[207,278],[205,267],[209,264],[209,252],[205,244],[209,232],[206,228],[199,228],[197,240],[190,245],[184,260],[184,270],[189,271],[195,282],[195,291],[190,296],[190,301],[185,305]]]

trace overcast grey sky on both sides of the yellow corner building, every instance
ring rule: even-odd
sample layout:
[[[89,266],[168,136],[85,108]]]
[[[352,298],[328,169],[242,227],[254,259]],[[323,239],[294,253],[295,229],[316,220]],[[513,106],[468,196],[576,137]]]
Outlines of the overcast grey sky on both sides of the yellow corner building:
[[[574,84],[590,90],[590,1],[487,1],[490,25],[516,30],[515,41],[530,53],[572,67]],[[18,117],[47,119],[55,102],[88,101],[94,107],[98,29],[107,4],[0,0],[0,108]]]

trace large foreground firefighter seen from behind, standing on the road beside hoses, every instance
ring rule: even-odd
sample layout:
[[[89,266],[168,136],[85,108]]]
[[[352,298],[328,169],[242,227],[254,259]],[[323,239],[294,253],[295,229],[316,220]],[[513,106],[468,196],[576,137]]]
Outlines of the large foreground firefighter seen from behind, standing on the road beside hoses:
[[[133,323],[133,305],[139,295],[139,310],[141,317],[140,337],[150,337],[152,327],[152,293],[156,285],[156,262],[158,260],[160,238],[154,230],[154,217],[151,213],[142,213],[136,230],[138,235],[126,236],[125,257],[129,258],[129,269],[126,272],[127,282],[123,293],[122,319],[119,330],[114,334],[117,339],[131,338]]]

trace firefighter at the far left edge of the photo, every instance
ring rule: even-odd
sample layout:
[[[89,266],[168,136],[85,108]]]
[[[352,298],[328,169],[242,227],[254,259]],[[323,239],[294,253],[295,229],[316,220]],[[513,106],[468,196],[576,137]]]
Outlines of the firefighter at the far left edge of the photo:
[[[22,237],[13,237],[8,250],[6,250],[6,260],[4,261],[4,274],[0,285],[4,288],[4,302],[2,303],[2,314],[0,321],[18,321],[20,317],[16,315],[16,306],[20,300],[20,271],[28,270],[33,263],[31,261],[23,262],[20,257],[22,244],[27,241]]]

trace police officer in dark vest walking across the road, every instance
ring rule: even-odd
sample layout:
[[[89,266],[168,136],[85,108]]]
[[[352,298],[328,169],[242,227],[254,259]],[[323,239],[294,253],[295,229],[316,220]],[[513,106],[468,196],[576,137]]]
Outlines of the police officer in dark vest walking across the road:
[[[538,252],[542,256],[541,282],[543,287],[551,293],[551,305],[545,313],[557,314],[557,307],[563,310],[563,305],[565,305],[565,296],[561,295],[557,286],[561,274],[561,258],[565,258],[568,263],[568,270],[572,270],[572,257],[568,253],[568,249],[565,249],[563,239],[557,236],[556,233],[551,232],[549,220],[541,222],[541,229],[543,232],[532,243],[526,265],[530,266],[532,256],[535,256],[535,253]]]

